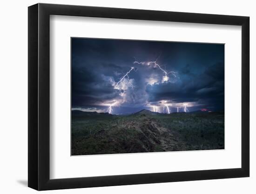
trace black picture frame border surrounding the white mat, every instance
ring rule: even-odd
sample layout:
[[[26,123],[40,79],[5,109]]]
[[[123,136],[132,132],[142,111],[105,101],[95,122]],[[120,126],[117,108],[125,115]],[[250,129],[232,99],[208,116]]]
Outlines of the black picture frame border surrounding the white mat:
[[[50,179],[50,15],[242,26],[242,167],[152,174]],[[249,176],[249,17],[108,7],[36,4],[28,7],[28,187],[102,187]]]

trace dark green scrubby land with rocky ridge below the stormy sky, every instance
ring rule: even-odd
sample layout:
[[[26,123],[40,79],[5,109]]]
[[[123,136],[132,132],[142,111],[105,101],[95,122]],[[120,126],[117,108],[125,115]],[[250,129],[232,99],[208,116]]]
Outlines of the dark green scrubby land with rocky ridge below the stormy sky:
[[[72,111],[72,155],[224,148],[224,112],[121,116]]]

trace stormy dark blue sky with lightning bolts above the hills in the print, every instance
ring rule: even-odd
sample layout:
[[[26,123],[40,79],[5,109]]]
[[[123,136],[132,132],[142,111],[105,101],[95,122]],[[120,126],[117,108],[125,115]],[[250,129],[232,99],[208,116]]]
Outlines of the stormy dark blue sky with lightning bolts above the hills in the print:
[[[223,44],[86,38],[71,44],[73,110],[224,110]]]

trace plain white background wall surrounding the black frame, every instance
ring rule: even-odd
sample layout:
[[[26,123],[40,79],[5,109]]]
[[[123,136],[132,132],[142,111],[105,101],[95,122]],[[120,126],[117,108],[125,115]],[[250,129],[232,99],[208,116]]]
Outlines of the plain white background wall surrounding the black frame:
[[[118,187],[98,187],[46,191],[44,193],[246,193],[256,192],[256,68],[253,56],[256,39],[256,12],[252,0],[41,0],[41,3],[73,4],[100,7],[123,7],[177,12],[215,13],[250,16],[250,64],[251,64],[251,176],[210,181],[187,181]],[[27,187],[27,7],[36,0],[3,1],[0,9],[0,192],[36,193]],[[254,184],[253,184],[254,183]]]

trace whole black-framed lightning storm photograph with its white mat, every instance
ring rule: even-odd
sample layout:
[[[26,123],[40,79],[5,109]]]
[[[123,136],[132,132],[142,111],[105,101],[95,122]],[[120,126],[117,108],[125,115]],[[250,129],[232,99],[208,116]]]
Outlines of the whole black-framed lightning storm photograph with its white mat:
[[[249,176],[249,17],[28,7],[28,186]]]

